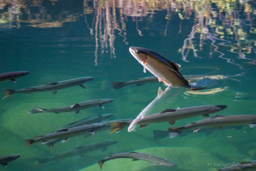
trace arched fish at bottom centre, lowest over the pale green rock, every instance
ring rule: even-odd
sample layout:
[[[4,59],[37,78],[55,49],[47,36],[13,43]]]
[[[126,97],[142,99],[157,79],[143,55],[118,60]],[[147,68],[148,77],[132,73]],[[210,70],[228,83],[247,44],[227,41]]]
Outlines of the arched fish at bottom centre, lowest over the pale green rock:
[[[156,164],[160,164],[160,165],[166,165],[166,166],[170,166],[170,167],[175,167],[176,164],[165,159],[165,158],[160,158],[158,156],[154,156],[151,154],[145,154],[145,153],[139,153],[139,152],[121,152],[121,153],[116,153],[116,154],[112,154],[112,155],[108,155],[105,158],[98,160],[97,163],[99,165],[100,168],[102,168],[103,163],[105,161],[108,161],[110,159],[115,159],[115,158],[132,158],[132,161],[136,161],[136,160],[146,160],[146,161],[150,161]]]

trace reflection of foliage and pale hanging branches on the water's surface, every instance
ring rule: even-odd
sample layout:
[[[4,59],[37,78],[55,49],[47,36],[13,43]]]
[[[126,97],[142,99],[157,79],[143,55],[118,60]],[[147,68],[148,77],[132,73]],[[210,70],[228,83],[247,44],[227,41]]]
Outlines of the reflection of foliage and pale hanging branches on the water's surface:
[[[83,19],[94,36],[94,63],[97,65],[98,52],[109,52],[110,57],[116,57],[116,35],[128,44],[126,23],[129,20],[135,22],[137,34],[143,36],[140,22],[145,16],[157,15],[157,11],[166,12],[162,30],[165,36],[173,15],[179,18],[178,34],[182,33],[183,20],[194,20],[190,33],[178,49],[183,61],[189,61],[190,53],[202,57],[204,43],[210,43],[209,56],[216,53],[242,69],[235,59],[225,56],[225,51],[229,51],[251,65],[256,64],[253,57],[256,42],[250,39],[256,33],[252,19],[256,10],[251,0],[83,0],[82,4],[58,0],[3,0],[0,2],[0,27],[61,27],[65,22]],[[90,17],[93,19],[88,20]]]

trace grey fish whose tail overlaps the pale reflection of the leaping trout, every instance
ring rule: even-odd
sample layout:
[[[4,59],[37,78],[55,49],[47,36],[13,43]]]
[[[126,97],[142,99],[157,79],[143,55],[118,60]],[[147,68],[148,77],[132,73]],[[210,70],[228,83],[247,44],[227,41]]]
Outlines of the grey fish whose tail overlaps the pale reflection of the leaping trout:
[[[175,123],[175,120],[202,115],[209,117],[209,114],[221,111],[225,109],[226,105],[199,105],[192,107],[185,107],[179,109],[167,108],[159,113],[145,115],[139,119],[136,124],[140,125],[140,128],[145,127],[150,123],[158,123],[168,121],[171,125]]]

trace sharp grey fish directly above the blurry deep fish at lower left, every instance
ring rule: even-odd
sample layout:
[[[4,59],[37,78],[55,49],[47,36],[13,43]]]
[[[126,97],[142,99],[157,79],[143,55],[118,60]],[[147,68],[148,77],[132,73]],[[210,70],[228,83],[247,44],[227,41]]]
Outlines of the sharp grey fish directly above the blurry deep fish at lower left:
[[[94,124],[86,124],[82,126],[76,126],[71,128],[61,128],[55,132],[48,133],[39,137],[36,137],[34,139],[25,139],[26,145],[25,147],[29,146],[32,143],[35,142],[47,142],[48,140],[52,139],[58,139],[58,138],[64,138],[67,140],[71,136],[76,136],[79,134],[84,134],[85,132],[90,132],[91,134],[94,134],[94,131],[102,126],[104,126],[104,123],[94,123]]]

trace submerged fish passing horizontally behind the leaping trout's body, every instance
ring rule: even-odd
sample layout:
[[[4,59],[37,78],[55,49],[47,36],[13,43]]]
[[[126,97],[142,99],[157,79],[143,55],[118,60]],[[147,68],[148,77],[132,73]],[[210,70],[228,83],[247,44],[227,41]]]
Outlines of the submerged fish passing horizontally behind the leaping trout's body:
[[[224,76],[224,75],[183,75],[183,77],[188,81],[205,79],[205,78],[208,78],[208,79],[227,78],[227,76]],[[130,84],[136,84],[137,86],[140,86],[149,82],[158,82],[158,78],[156,76],[148,76],[148,77],[133,79],[129,81],[115,81],[115,82],[111,82],[111,84],[113,86],[113,89],[119,89],[121,87],[130,85]]]

